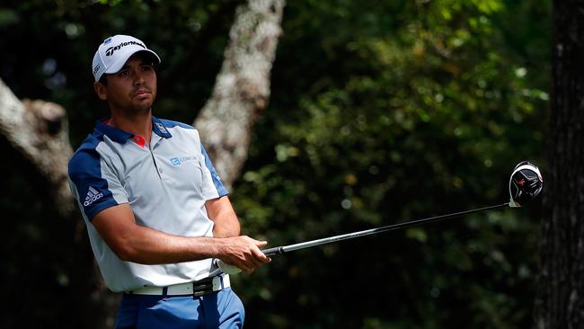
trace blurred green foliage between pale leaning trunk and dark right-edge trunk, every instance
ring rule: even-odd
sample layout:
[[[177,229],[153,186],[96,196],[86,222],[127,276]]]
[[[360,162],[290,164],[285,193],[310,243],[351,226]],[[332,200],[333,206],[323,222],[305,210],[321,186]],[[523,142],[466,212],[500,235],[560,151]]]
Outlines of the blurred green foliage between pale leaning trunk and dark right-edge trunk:
[[[507,200],[513,166],[544,159],[549,55],[534,45],[549,35],[529,34],[533,15],[513,22],[537,10],[288,4],[270,111],[234,195],[250,232],[288,245]],[[277,293],[245,297],[306,320],[252,326],[526,327],[534,208],[276,256],[259,276]]]

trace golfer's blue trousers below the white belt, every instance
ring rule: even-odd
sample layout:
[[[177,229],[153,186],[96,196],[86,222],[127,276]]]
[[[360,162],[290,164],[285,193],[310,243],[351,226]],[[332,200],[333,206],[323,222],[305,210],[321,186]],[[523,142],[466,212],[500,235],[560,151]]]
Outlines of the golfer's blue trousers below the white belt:
[[[124,294],[116,329],[235,329],[243,328],[245,310],[231,288],[193,296]]]

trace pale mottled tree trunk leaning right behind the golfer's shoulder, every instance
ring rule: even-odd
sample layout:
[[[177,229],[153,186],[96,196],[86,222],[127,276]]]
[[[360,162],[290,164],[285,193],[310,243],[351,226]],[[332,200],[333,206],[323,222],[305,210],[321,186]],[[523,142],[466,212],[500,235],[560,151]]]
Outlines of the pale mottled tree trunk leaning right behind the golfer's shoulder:
[[[284,0],[250,0],[237,8],[212,96],[194,122],[227,188],[241,172],[253,124],[270,98],[284,5]]]

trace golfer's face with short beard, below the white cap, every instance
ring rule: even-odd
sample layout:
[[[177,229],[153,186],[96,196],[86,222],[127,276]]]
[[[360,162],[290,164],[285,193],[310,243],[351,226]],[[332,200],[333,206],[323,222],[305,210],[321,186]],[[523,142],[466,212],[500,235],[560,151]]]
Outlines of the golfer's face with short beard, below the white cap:
[[[106,76],[107,85],[96,87],[112,111],[128,114],[149,111],[156,98],[156,73],[152,63],[139,56],[128,58],[117,73]]]

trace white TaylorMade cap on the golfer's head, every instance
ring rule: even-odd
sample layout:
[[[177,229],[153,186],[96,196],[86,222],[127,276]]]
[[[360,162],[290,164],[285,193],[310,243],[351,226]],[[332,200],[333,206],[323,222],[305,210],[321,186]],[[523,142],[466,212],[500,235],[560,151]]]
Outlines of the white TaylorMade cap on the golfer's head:
[[[93,56],[92,72],[95,81],[99,81],[104,73],[116,73],[126,64],[128,58],[138,51],[146,51],[158,60],[155,64],[160,64],[160,58],[156,53],[146,48],[141,40],[137,40],[129,35],[114,35],[106,40],[95,51]]]

